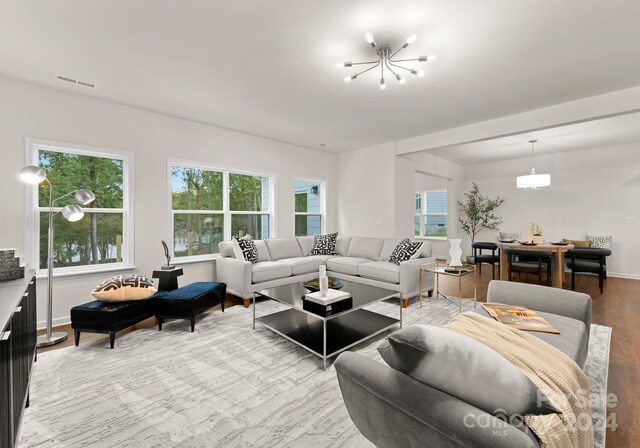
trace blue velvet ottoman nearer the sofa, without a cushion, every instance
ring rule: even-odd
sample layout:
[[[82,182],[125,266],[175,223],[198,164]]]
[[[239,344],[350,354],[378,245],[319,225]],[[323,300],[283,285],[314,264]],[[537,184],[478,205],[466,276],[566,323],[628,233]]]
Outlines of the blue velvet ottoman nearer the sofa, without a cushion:
[[[196,282],[173,291],[159,291],[151,296],[153,313],[162,331],[165,319],[189,319],[191,332],[195,331],[196,316],[209,308],[220,305],[224,312],[227,284],[218,282]]]

